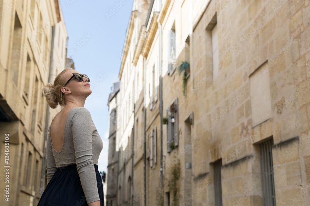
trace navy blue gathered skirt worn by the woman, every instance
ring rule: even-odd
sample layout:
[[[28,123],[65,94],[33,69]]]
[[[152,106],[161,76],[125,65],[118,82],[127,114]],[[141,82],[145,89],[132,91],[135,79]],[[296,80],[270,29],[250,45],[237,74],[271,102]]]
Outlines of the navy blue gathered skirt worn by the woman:
[[[104,194],[98,165],[94,164],[100,205],[104,206]],[[88,206],[82,188],[77,165],[56,167],[56,171],[47,184],[38,206]]]

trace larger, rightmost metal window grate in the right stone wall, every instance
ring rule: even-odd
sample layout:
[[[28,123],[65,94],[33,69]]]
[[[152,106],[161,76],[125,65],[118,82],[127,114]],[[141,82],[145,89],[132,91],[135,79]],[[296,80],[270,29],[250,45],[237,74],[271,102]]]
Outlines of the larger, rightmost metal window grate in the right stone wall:
[[[276,206],[271,146],[272,139],[259,145],[264,206]]]

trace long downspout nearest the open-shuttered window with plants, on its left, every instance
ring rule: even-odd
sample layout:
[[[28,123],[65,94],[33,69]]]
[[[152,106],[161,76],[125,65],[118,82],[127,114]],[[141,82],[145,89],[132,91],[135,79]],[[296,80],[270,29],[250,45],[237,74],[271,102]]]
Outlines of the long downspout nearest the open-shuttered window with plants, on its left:
[[[159,11],[162,8],[162,0],[158,0]],[[162,168],[162,24],[158,22],[159,37],[159,116],[160,116],[160,186],[163,186]]]

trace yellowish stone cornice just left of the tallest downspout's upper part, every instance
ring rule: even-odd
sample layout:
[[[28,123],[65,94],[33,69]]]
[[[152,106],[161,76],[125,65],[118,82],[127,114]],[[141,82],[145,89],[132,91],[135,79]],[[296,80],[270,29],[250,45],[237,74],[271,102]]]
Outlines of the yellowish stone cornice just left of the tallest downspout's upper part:
[[[147,35],[146,35],[146,38],[144,41],[144,45],[142,48],[141,54],[143,57],[147,57],[148,52],[151,49],[151,45],[153,43],[154,36],[155,36],[157,28],[158,28],[158,23],[157,23],[158,14],[159,14],[159,12],[157,12],[157,11],[154,12],[153,17],[151,19],[150,26],[149,26],[149,29],[148,29],[148,32],[147,32]]]

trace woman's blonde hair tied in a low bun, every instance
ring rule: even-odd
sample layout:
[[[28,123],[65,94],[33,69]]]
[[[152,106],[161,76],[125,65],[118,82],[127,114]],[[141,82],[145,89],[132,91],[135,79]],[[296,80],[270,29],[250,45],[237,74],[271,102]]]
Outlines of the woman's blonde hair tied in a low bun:
[[[62,107],[64,107],[66,104],[64,99],[64,93],[61,91],[61,87],[63,87],[64,84],[68,81],[64,78],[63,74],[70,69],[72,68],[68,67],[64,69],[57,75],[53,84],[47,83],[43,87],[44,92],[43,96],[45,96],[48,105],[52,109],[55,109],[58,106],[58,104],[60,104],[60,106]]]

